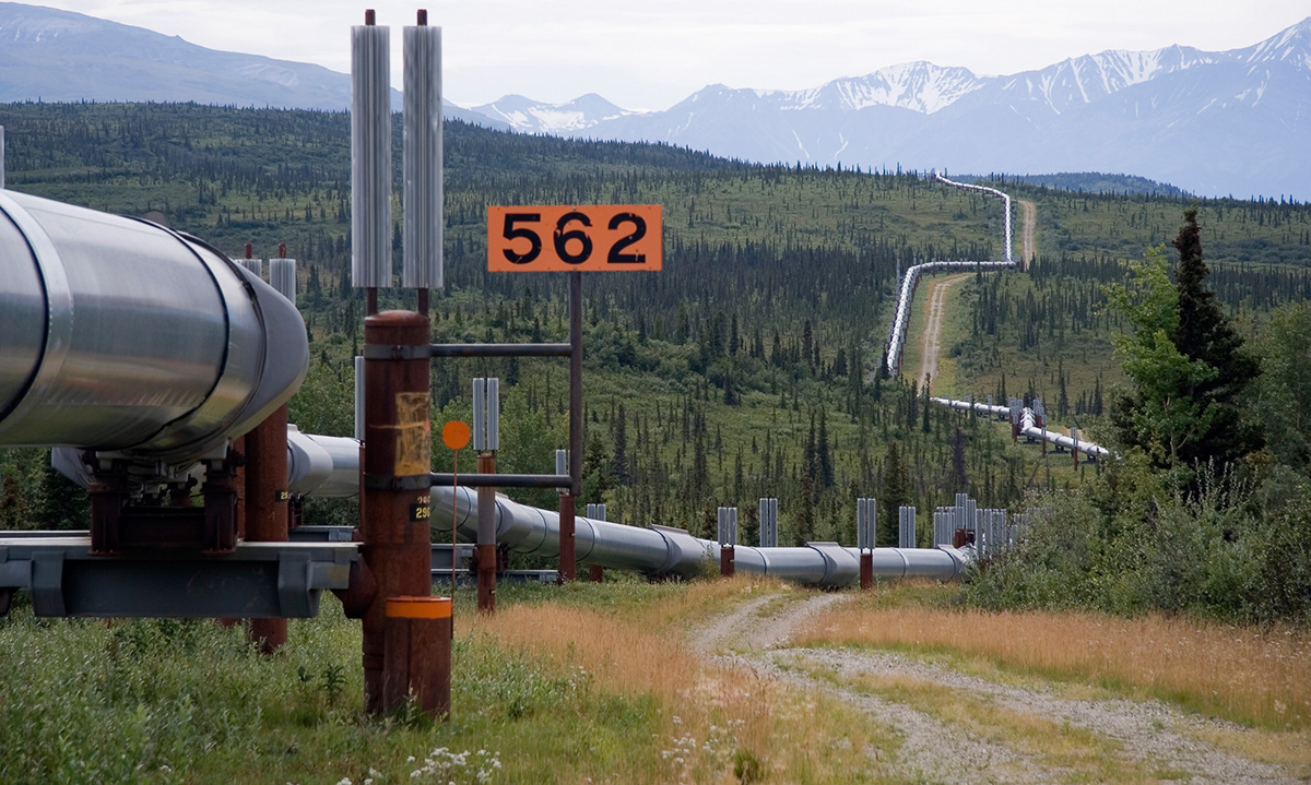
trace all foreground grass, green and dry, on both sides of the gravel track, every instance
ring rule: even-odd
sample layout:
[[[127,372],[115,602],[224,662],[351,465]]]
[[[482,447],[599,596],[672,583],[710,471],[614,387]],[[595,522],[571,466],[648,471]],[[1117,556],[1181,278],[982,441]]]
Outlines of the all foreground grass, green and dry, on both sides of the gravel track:
[[[490,619],[461,591],[452,717],[435,725],[410,710],[361,712],[359,626],[333,600],[320,619],[292,621],[291,642],[273,657],[258,655],[239,628],[208,621],[49,621],[20,607],[0,622],[0,781],[914,781],[886,765],[901,740],[884,725],[754,668],[705,659],[687,642],[690,629],[741,602],[796,591],[743,577],[505,586]],[[985,615],[950,609],[954,592],[884,584],[814,617],[804,642],[906,651],[1067,692],[1156,697],[1264,734],[1217,731],[1209,743],[1311,764],[1304,630]],[[985,716],[1000,722],[933,684],[855,687],[964,727]],[[1116,771],[1129,781],[1159,775],[1114,769],[1118,759],[1087,734],[1011,719],[990,730],[1002,734],[998,743],[1059,739],[1051,760],[1096,773],[1092,781],[1114,781]]]

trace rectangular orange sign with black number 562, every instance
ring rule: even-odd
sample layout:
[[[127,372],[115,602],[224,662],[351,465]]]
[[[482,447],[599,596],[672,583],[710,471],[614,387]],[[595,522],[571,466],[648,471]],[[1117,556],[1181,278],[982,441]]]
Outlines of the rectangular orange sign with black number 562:
[[[659,270],[659,204],[488,207],[488,270]]]

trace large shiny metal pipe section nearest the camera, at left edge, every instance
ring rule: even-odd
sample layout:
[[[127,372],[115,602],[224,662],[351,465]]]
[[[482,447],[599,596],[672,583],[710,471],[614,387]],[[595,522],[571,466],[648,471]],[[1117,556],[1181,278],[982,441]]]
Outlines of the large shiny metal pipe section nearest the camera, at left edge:
[[[222,455],[308,358],[295,307],[206,244],[0,191],[0,446]]]

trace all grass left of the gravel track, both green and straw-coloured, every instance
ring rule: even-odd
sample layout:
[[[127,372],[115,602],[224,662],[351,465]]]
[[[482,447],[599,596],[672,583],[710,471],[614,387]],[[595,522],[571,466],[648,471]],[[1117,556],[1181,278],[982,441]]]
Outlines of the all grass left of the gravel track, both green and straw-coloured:
[[[502,586],[498,615],[564,621],[524,641],[480,620],[461,590],[440,723],[361,710],[359,624],[332,599],[292,620],[271,657],[208,620],[38,620],[21,603],[0,621],[0,782],[464,785],[484,781],[479,769],[497,784],[905,781],[865,757],[895,740],[843,706],[688,664],[680,641],[696,619],[791,587],[607,578]],[[607,636],[604,651],[589,630]],[[638,638],[662,655],[625,662]],[[633,672],[641,683],[623,678]]]

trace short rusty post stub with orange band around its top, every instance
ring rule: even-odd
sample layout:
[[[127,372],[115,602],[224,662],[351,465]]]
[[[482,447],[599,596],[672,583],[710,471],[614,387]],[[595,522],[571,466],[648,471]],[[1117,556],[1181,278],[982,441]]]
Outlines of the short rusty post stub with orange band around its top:
[[[410,696],[425,713],[451,713],[451,598],[399,596],[387,600],[383,710]]]

